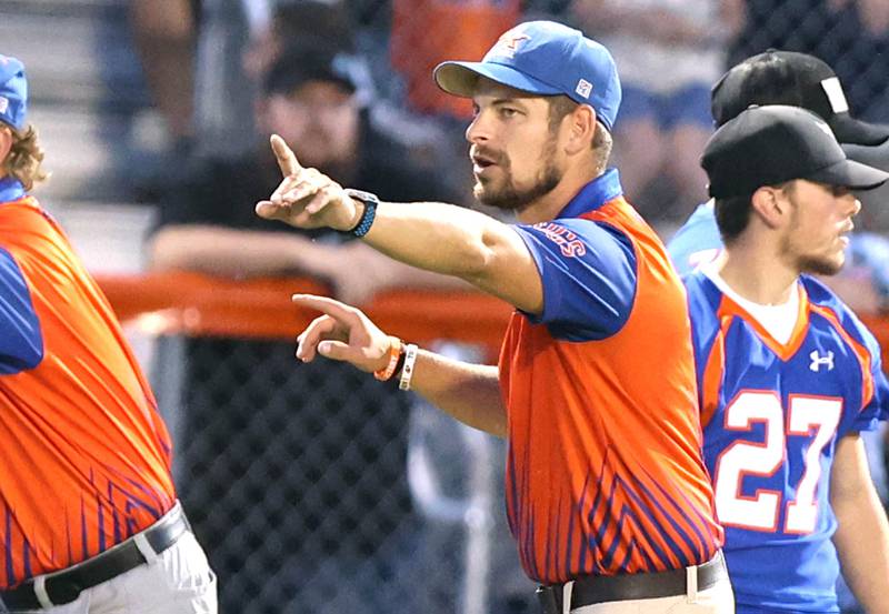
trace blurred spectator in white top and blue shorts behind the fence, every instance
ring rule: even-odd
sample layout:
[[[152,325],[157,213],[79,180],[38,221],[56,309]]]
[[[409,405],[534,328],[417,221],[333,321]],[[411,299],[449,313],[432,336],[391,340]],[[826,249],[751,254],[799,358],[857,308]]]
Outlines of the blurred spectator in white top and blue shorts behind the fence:
[[[727,42],[740,29],[742,0],[576,0],[582,29],[620,67],[623,100],[615,125],[628,198],[657,222],[685,219],[705,198],[698,159],[712,131],[710,84],[722,73]],[[646,198],[658,179],[676,194]]]

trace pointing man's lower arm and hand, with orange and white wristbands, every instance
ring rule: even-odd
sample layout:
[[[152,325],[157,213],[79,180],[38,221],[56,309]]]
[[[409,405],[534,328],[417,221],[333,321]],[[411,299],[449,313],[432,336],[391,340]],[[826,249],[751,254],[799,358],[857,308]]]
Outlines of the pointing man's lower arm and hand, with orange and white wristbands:
[[[294,295],[293,302],[324,313],[299,335],[298,359],[309,362],[321,354],[367,372],[379,371],[389,362],[392,338],[359,310],[332,299],[306,294]],[[496,366],[469,364],[420,351],[411,390],[469,426],[506,436],[507,411]]]

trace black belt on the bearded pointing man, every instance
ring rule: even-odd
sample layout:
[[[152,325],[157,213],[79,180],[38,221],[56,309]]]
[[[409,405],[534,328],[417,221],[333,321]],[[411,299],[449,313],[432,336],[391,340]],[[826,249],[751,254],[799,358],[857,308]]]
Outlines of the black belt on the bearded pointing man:
[[[722,551],[707,563],[697,565],[698,591],[706,591],[719,581],[728,578]],[[612,601],[655,600],[688,593],[687,570],[667,572],[587,575],[575,580],[571,590],[571,610]],[[537,590],[543,614],[562,614],[563,584],[541,586]]]

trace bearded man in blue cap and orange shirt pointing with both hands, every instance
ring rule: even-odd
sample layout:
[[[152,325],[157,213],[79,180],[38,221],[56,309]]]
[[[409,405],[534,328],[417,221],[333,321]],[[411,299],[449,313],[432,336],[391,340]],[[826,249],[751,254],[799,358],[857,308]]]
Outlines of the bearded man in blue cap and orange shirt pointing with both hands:
[[[685,293],[607,168],[620,104],[610,53],[532,21],[434,78],[476,108],[466,137],[477,198],[520,223],[343,190],[274,138],[286,177],[257,212],[333,228],[509,302],[500,363],[450,361],[308,295],[293,300],[323,315],[297,358],[348,361],[508,439],[510,529],[547,614],[732,612]]]

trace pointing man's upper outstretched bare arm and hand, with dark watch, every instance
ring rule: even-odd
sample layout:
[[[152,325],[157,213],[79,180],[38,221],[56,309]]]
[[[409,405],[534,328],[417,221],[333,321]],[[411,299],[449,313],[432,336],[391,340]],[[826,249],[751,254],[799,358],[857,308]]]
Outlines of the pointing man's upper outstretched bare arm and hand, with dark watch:
[[[272,147],[284,181],[257,213],[298,228],[349,230],[364,205],[313,169],[302,169],[278,137]],[[529,313],[543,310],[533,256],[508,225],[441,203],[381,203],[364,240],[387,255],[427,271],[460,278]]]

